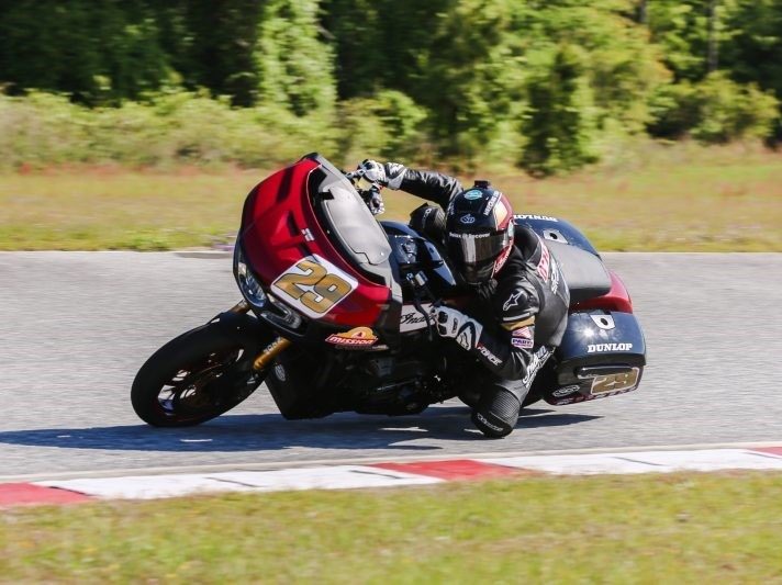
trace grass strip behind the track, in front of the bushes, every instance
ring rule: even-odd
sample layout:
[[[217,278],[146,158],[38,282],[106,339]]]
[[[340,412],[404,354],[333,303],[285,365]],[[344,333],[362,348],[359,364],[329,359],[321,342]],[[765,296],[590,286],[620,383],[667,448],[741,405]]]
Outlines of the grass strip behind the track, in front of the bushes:
[[[679,154],[679,158],[675,154]],[[0,176],[2,250],[161,250],[209,246],[235,232],[266,171]],[[782,251],[782,156],[682,148],[636,168],[533,180],[482,172],[520,213],[573,222],[602,250]],[[469,177],[462,177],[466,181]],[[386,192],[388,218],[421,202]]]

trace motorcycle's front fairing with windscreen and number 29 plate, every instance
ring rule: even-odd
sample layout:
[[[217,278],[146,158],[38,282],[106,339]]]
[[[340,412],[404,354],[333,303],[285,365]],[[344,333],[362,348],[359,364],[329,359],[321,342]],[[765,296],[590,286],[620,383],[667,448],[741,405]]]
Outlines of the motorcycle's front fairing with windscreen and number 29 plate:
[[[369,214],[338,170],[320,155],[308,155],[250,191],[237,245],[264,286],[268,290],[275,283],[277,300],[319,324],[339,330],[386,329],[388,313],[399,305],[398,329],[401,292],[372,233],[377,230],[388,247],[382,229],[371,214],[367,222],[334,212],[339,205],[322,204],[338,201],[353,207],[350,201],[356,200],[358,213]],[[371,246],[362,247],[361,241]],[[344,243],[353,254],[346,252]]]

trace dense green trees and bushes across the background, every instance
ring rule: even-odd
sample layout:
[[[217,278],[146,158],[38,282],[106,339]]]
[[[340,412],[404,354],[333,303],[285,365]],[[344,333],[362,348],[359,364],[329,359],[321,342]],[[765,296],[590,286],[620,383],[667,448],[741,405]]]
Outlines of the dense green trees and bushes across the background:
[[[547,175],[634,135],[782,139],[782,0],[0,0],[0,85],[18,164],[304,142]],[[94,148],[35,154],[44,124]]]

